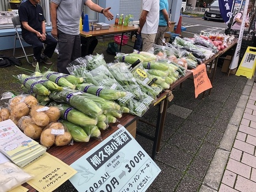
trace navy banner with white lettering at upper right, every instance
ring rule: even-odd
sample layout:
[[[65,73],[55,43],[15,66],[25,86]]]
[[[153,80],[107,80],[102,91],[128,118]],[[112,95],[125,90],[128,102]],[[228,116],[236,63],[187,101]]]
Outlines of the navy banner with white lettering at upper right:
[[[233,0],[219,0],[219,8],[220,14],[227,24],[227,22],[229,22],[230,18],[232,17]]]

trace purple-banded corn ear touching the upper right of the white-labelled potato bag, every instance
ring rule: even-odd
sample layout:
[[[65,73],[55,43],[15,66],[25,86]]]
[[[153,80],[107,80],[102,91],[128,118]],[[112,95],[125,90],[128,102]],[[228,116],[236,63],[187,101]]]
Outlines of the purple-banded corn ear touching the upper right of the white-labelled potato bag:
[[[59,104],[57,108],[60,110],[60,117],[64,120],[68,120],[71,123],[74,123],[78,126],[85,126],[85,125],[97,125],[97,120],[85,115],[81,111],[73,108],[68,104]]]

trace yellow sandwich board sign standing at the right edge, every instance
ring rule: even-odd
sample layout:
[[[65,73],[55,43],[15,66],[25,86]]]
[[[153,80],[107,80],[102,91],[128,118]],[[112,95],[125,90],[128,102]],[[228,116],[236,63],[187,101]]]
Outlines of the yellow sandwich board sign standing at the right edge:
[[[246,76],[252,78],[256,66],[256,47],[247,47],[246,53],[236,71],[236,76]]]

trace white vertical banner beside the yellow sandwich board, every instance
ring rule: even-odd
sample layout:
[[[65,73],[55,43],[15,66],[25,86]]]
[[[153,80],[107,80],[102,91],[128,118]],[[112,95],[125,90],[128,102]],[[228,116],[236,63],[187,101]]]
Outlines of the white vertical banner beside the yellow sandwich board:
[[[249,4],[249,0],[246,0],[246,4],[244,4],[244,9],[243,9],[243,15],[247,15],[248,4]],[[241,29],[239,31],[239,37],[238,37],[238,41],[237,41],[235,54],[233,55],[231,64],[229,66],[229,69],[231,69],[231,70],[236,69],[236,67],[238,66],[238,61],[239,61],[241,44],[242,44],[242,40],[243,40],[243,31],[244,31],[244,25],[245,24],[246,24],[246,16],[243,16],[242,17],[242,23],[241,23]]]

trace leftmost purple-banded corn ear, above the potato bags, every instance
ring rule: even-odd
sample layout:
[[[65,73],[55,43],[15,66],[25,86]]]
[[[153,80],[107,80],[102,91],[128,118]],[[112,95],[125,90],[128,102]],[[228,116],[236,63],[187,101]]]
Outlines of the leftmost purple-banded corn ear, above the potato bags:
[[[25,74],[18,75],[19,81],[30,90],[31,93],[38,95],[49,95],[50,91],[40,83],[40,81],[31,78]]]

